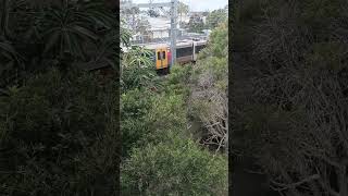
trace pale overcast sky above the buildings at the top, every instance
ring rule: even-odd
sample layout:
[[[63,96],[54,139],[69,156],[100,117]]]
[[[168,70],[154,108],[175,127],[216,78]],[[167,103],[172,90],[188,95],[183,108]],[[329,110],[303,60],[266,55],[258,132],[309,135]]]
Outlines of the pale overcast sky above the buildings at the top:
[[[133,0],[134,3],[149,2],[149,0]],[[171,0],[153,0],[153,2],[171,2]],[[182,0],[191,11],[212,11],[224,8],[228,0]]]

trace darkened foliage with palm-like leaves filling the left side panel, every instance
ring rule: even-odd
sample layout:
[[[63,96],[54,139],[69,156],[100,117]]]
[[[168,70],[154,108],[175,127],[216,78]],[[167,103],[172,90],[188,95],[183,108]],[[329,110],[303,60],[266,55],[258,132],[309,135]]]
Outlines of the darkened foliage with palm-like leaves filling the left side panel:
[[[117,195],[117,86],[84,71],[116,68],[112,8],[3,0],[0,10],[0,195]]]

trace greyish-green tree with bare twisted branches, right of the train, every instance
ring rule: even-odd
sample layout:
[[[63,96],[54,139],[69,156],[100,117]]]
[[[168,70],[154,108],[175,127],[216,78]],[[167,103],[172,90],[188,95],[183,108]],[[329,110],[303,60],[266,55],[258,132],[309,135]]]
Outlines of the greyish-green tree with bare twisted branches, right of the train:
[[[190,102],[194,115],[203,123],[202,140],[216,151],[227,147],[227,22],[210,35],[195,66]]]

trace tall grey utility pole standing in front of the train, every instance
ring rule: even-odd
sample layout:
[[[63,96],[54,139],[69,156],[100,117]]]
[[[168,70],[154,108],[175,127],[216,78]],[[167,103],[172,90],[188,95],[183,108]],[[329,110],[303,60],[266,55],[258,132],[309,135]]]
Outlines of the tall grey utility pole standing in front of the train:
[[[176,60],[176,19],[177,19],[177,0],[171,0],[171,51],[172,51],[172,62],[171,66],[174,65]],[[171,68],[170,68],[171,69]]]

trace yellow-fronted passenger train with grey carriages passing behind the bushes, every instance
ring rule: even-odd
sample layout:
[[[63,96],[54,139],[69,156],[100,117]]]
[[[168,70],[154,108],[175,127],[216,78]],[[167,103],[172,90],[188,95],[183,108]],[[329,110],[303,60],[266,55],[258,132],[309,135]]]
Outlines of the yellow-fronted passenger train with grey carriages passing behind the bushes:
[[[169,44],[137,45],[151,51],[151,59],[158,73],[169,73],[172,52]],[[181,40],[176,42],[176,62],[195,63],[198,53],[207,46],[207,40]]]

